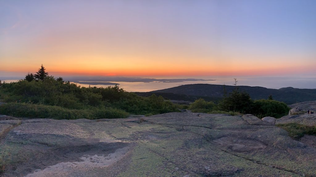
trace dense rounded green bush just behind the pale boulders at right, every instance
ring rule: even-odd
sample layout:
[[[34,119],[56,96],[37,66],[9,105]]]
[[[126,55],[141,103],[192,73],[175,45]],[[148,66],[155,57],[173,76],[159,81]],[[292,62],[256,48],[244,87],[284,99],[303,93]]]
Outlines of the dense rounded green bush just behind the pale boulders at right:
[[[266,116],[280,118],[289,113],[290,108],[283,102],[276,100],[256,100],[253,103],[251,114],[259,118]]]

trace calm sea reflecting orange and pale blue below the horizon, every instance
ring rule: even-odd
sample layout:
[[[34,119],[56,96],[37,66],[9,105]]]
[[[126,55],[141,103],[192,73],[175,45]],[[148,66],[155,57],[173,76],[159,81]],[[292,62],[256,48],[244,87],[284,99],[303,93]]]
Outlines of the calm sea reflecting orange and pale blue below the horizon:
[[[183,81],[183,82],[115,82],[119,84],[119,87],[125,91],[130,92],[146,92],[155,91],[171,87],[176,87],[186,84],[218,84],[218,85],[230,85],[234,84],[233,77],[185,77],[194,79],[214,79],[205,81]],[[176,77],[164,77],[156,79],[184,79]],[[261,86],[266,88],[279,89],[283,87],[294,87],[294,88],[307,88],[316,89],[316,76],[287,76],[287,77],[238,77],[237,85],[239,86]],[[17,80],[5,80],[6,82],[16,82]],[[82,87],[88,87],[88,84],[77,84]],[[109,85],[90,85],[96,87],[107,87]]]

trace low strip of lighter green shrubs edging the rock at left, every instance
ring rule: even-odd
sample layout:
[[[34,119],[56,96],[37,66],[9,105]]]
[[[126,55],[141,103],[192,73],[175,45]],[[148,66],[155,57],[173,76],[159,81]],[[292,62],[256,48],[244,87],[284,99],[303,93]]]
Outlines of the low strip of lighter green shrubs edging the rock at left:
[[[112,119],[126,118],[124,110],[103,109],[66,109],[59,106],[49,106],[29,103],[6,103],[0,106],[0,114],[15,117],[51,118],[51,119]]]

